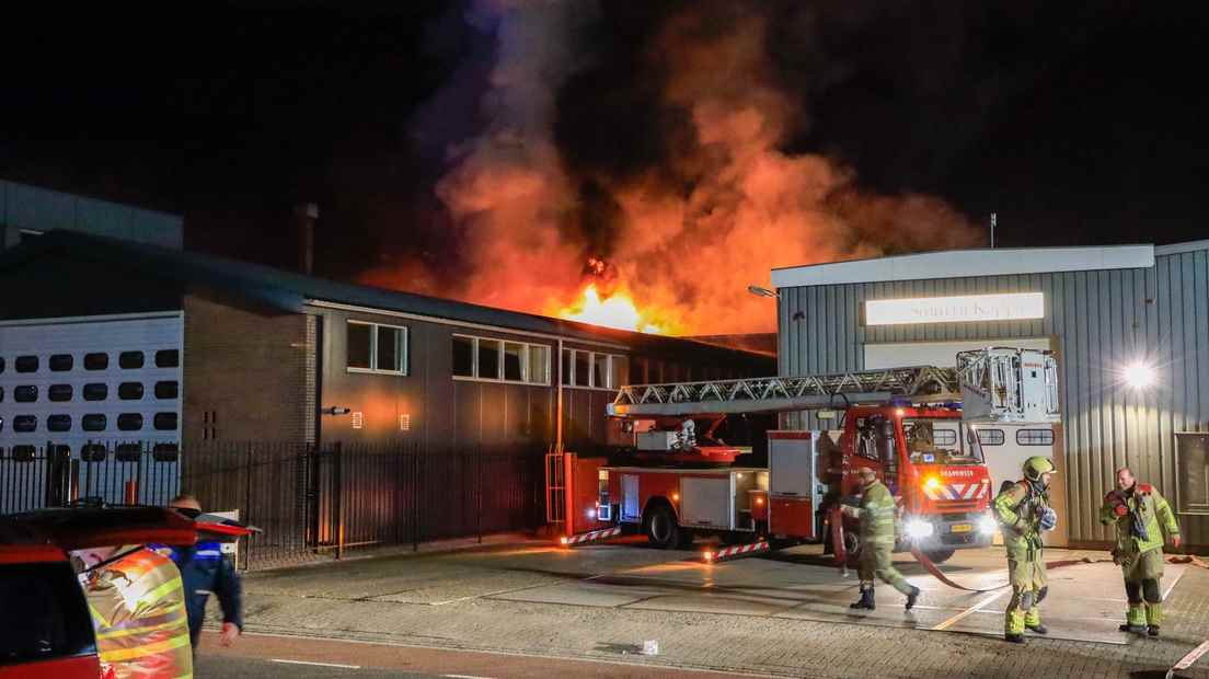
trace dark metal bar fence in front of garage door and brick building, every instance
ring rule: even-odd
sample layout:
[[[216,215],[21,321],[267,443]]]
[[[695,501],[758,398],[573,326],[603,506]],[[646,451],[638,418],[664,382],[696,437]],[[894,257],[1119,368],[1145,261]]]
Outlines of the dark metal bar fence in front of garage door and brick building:
[[[83,498],[162,505],[190,493],[207,511],[238,510],[262,529],[241,545],[243,568],[531,529],[544,520],[538,451],[207,441],[179,452],[125,443],[83,453],[47,445],[0,455],[0,513]]]

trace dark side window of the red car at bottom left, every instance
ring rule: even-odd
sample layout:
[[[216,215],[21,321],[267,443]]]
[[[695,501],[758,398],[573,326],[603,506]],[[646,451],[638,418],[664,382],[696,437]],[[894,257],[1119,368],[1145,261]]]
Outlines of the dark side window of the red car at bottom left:
[[[0,667],[97,652],[83,590],[63,563],[0,564]]]

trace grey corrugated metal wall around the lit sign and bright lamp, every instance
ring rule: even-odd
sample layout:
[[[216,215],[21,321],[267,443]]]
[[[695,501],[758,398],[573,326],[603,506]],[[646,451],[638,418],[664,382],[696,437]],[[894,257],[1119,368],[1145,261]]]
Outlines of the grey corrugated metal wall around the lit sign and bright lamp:
[[[1045,292],[1046,318],[864,327],[864,300]],[[1156,255],[1152,269],[989,275],[786,288],[781,290],[780,373],[861,370],[864,344],[1051,337],[1062,375],[1070,539],[1107,540],[1097,511],[1113,471],[1176,495],[1176,431],[1209,431],[1209,249]],[[1147,359],[1158,384],[1136,393],[1120,366]],[[812,418],[787,425],[815,428]],[[1209,545],[1209,517],[1181,516],[1186,539]]]

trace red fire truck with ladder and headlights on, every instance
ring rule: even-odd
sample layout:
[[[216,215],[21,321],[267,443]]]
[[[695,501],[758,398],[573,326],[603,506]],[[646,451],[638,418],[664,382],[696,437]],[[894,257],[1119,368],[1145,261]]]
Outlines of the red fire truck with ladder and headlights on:
[[[855,495],[858,469],[870,468],[901,509],[896,547],[938,563],[989,545],[996,530],[979,424],[1058,422],[1057,379],[1049,352],[988,348],[959,353],[955,368],[623,387],[609,416],[641,454],[578,460],[584,486],[595,475],[595,497],[580,493],[568,511],[606,528],[601,534],[641,532],[664,549],[713,535],[776,549],[820,541],[826,510]],[[803,411],[834,429],[768,431],[767,464],[695,441],[700,419]],[[682,425],[669,426],[676,418]],[[849,528],[845,546],[855,553]]]

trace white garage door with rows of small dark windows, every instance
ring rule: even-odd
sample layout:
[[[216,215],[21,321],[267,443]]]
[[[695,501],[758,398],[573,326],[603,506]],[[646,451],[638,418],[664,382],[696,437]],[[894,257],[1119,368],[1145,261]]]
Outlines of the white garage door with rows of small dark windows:
[[[174,492],[183,332],[180,313],[0,324],[0,483],[45,495],[27,509],[62,500],[59,486],[117,501],[132,477],[144,501],[150,483],[157,500]],[[116,464],[120,446],[134,468]]]

